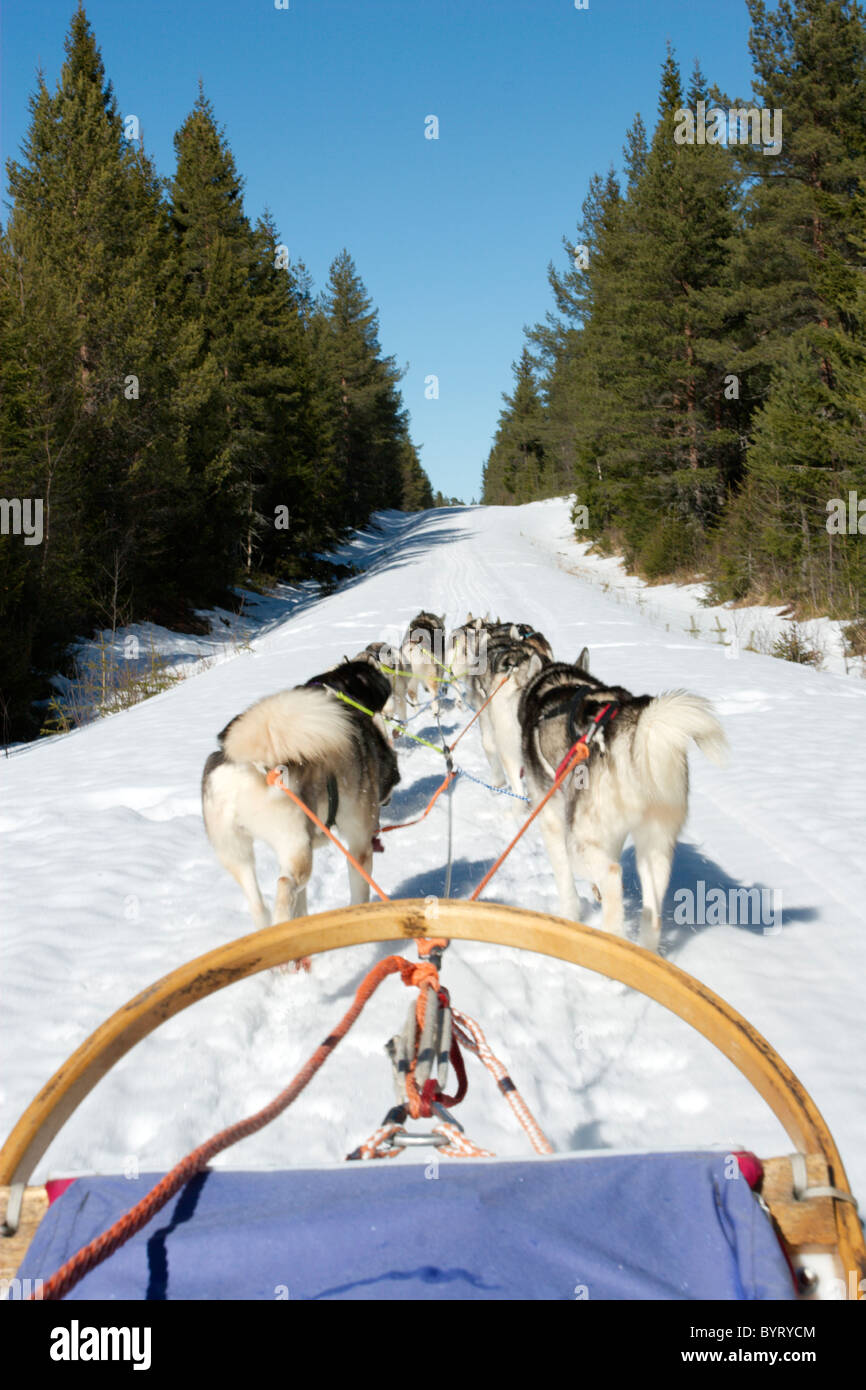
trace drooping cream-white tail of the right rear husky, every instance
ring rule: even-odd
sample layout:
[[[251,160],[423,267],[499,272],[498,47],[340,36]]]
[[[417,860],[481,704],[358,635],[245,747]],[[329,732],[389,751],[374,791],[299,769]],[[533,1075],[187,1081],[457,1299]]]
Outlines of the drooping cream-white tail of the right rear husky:
[[[728,744],[709,701],[687,691],[652,699],[638,719],[634,755],[648,783],[664,801],[676,801],[688,785],[687,749],[694,739],[713,763],[724,763]]]

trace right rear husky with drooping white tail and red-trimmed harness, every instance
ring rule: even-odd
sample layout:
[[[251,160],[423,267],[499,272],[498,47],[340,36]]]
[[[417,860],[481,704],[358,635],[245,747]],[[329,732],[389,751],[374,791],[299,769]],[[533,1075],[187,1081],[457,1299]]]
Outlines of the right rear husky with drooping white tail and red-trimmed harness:
[[[620,855],[634,840],[641,880],[641,945],[657,949],[660,912],[674,845],[688,813],[691,739],[712,762],[723,763],[727,739],[709,701],[685,691],[631,695],[605,685],[588,669],[587,649],[577,664],[555,662],[523,691],[518,719],[527,790],[538,805],[569,749],[612,705],[612,719],[539,815],[562,915],[580,919],[574,874],[588,878],[602,902],[602,926],[623,934]]]

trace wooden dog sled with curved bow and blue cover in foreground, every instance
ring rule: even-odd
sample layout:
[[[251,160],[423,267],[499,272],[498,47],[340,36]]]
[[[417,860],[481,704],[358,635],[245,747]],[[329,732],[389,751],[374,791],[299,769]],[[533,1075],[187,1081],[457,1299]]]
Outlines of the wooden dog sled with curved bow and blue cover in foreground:
[[[638,945],[538,912],[441,901],[432,944],[430,930],[425,903],[414,899],[284,922],[199,956],[118,1009],[42,1088],[0,1151],[0,1275],[13,1295],[42,1297],[40,1282],[44,1297],[70,1300],[863,1295],[863,1232],[833,1136],[788,1066],[728,1004]],[[220,1150],[202,1145],[161,1188],[153,1175],[28,1186],[54,1136],[111,1066],[189,1005],[260,970],[367,942],[416,942],[420,974],[406,956],[388,958],[398,965],[377,967],[379,974],[402,973],[418,998],[431,990],[446,998],[438,963],[455,940],[555,956],[657,1001],[738,1068],[794,1152],[763,1161],[721,1151],[544,1156],[535,1144],[542,1156],[493,1161],[470,1145],[463,1152],[474,1148],[475,1156],[449,1162],[446,1182],[424,1182],[417,1163],[399,1158],[339,1169],[214,1170],[209,1155]],[[353,1009],[357,1016],[357,998]],[[349,1015],[293,1087],[311,1079]],[[436,1047],[453,1058],[449,1038]],[[513,1083],[492,1070],[517,1111]],[[421,1115],[446,1123],[410,1133],[406,1116],[392,1112],[368,1156],[377,1145],[389,1156],[414,1144],[430,1144],[436,1156],[461,1152],[468,1140],[436,1090],[441,1083],[442,1073],[430,1094],[443,1104],[434,1101]],[[267,1109],[278,1113],[286,1104]],[[245,1125],[232,1130],[235,1138],[249,1133]],[[131,1202],[145,1216],[135,1230],[124,1227]],[[103,1259],[106,1232],[114,1234]],[[82,1247],[90,1251],[86,1269],[75,1268]],[[74,1268],[72,1283],[53,1284],[49,1276],[60,1266]]]

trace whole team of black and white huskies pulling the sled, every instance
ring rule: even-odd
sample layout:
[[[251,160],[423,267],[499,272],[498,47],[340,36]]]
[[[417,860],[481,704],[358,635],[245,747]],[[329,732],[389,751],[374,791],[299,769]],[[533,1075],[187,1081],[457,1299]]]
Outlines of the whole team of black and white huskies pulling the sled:
[[[641,880],[639,941],[656,949],[677,837],[688,813],[688,745],[721,763],[727,741],[710,703],[674,691],[632,695],[577,662],[556,662],[549,642],[527,624],[468,614],[446,641],[445,619],[420,613],[400,646],[374,642],[353,660],[279,691],[238,714],[218,735],[202,778],[207,835],[238,880],[257,927],[303,916],[313,851],[322,833],[267,774],[282,783],[370,873],[379,808],[400,780],[386,719],[405,721],[424,688],[436,699],[455,680],[481,709],[478,724],[495,784],[537,806],[577,741],[589,756],[542,809],[538,823],[564,917],[581,917],[575,876],[602,903],[605,930],[621,934],[620,856],[634,840]],[[463,696],[457,696],[464,706]],[[361,706],[361,708],[359,708]],[[268,916],[253,844],[264,840],[279,874]],[[352,903],[368,901],[366,878],[349,865]]]

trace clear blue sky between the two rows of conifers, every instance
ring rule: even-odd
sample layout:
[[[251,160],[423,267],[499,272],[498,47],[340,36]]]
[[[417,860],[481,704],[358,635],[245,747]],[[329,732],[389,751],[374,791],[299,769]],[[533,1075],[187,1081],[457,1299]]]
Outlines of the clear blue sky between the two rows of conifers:
[[[74,7],[1,0],[4,160],[18,156],[36,68],[57,81]],[[685,76],[699,57],[723,90],[751,89],[745,0],[89,0],[86,11],[161,174],[200,76],[250,218],[270,207],[317,286],[350,250],[382,348],[409,368],[421,461],[467,502],[588,179],[620,164],[637,111],[652,131],[666,40]],[[424,138],[428,115],[438,140]]]

